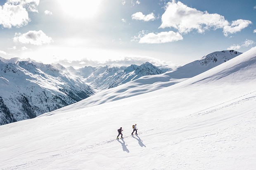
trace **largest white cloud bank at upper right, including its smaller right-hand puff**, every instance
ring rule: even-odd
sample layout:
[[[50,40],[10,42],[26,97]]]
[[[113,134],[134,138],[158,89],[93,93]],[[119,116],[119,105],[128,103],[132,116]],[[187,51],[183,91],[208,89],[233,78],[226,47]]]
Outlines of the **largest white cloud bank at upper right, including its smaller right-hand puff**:
[[[192,30],[204,33],[205,30],[222,28],[225,36],[239,32],[251,24],[251,21],[242,19],[232,21],[230,24],[224,16],[201,12],[182,2],[176,3],[175,0],[167,3],[161,19],[162,24],[159,28],[175,28],[179,33],[189,33]]]

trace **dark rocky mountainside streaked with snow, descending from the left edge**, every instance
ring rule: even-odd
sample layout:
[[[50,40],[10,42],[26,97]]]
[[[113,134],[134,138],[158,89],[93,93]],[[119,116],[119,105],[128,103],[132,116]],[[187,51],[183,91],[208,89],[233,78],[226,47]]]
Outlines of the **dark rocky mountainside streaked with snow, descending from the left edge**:
[[[34,118],[94,94],[93,88],[52,65],[0,60],[0,125]]]

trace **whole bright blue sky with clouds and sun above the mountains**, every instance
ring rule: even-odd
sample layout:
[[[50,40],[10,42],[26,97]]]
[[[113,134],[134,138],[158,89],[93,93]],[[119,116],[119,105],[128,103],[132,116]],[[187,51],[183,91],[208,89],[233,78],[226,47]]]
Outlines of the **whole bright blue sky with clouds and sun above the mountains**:
[[[0,0],[0,56],[174,67],[255,47],[255,16],[255,0]]]

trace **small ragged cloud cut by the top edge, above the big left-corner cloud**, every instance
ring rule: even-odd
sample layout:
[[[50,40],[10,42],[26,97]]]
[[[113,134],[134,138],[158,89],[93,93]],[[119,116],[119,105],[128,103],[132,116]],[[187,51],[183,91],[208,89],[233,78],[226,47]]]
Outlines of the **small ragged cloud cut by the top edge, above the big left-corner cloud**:
[[[30,12],[38,12],[37,7],[40,0],[7,0],[8,4],[21,5]]]

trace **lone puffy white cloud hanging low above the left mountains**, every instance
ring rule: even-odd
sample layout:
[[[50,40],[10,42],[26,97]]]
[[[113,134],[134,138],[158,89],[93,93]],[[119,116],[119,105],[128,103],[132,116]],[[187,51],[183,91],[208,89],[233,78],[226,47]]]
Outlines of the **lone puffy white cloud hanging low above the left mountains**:
[[[14,42],[20,42],[22,44],[34,44],[34,45],[42,45],[49,44],[52,41],[51,37],[48,37],[43,33],[42,30],[39,31],[28,31],[27,33],[15,33],[15,37],[13,38]]]

